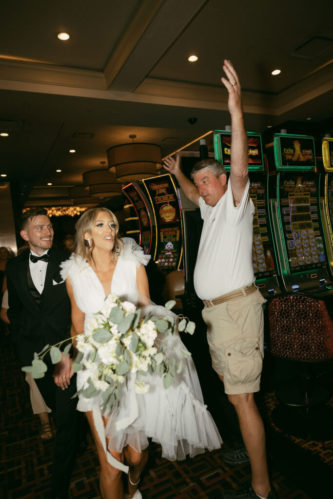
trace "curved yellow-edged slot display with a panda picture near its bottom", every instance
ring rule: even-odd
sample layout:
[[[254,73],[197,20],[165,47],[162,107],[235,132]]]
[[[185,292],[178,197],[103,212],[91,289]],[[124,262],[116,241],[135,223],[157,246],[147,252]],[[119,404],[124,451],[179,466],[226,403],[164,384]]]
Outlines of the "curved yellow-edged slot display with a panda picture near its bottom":
[[[143,184],[153,207],[156,220],[157,265],[171,271],[179,268],[182,259],[182,222],[173,180],[169,174],[144,179]]]

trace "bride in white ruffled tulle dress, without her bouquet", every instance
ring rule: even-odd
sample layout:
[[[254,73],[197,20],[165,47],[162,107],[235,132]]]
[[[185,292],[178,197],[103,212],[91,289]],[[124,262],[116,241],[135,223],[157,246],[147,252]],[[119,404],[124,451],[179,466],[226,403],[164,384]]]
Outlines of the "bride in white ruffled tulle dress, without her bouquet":
[[[151,303],[144,268],[150,255],[145,255],[134,240],[121,240],[118,229],[116,217],[106,208],[88,210],[76,223],[76,252],[61,264],[71,300],[72,336],[84,331],[85,321],[102,309],[105,296],[111,292],[138,306]],[[155,315],[171,313],[164,307],[156,309]],[[186,350],[178,334],[167,338],[173,353]],[[131,389],[136,376],[128,374],[127,383],[120,385],[119,406],[109,418],[101,416],[98,396],[86,399],[79,395],[77,409],[86,413],[96,444],[103,499],[123,499],[122,470],[128,470],[127,497],[142,498],[138,485],[148,459],[148,438],[158,442],[162,457],[170,460],[221,446],[191,357],[183,359],[181,373],[166,390],[153,374],[149,392],[138,395]],[[87,377],[85,369],[78,371],[78,390]]]

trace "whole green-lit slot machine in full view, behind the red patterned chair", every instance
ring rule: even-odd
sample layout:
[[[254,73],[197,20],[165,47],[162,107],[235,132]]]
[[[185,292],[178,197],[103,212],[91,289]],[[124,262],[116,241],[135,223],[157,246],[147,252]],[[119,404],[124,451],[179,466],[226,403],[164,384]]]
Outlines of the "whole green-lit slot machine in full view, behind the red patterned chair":
[[[272,151],[272,150],[271,150]],[[287,291],[326,294],[332,284],[320,212],[320,174],[311,136],[275,134],[270,208]]]

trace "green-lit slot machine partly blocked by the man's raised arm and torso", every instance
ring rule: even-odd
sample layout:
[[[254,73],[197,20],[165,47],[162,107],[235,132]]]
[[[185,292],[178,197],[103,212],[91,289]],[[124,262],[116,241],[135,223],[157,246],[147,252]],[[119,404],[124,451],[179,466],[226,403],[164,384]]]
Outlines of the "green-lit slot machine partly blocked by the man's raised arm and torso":
[[[250,196],[255,206],[253,218],[253,271],[256,285],[267,298],[280,294],[279,269],[269,216],[268,173],[265,171],[262,140],[259,133],[247,132],[249,140]],[[230,171],[231,131],[214,132],[215,157]]]

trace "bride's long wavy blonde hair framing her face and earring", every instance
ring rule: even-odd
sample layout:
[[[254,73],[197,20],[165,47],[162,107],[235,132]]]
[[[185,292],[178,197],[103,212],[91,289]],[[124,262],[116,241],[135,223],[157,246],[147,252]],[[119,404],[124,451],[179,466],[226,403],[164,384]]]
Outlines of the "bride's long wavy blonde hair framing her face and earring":
[[[93,261],[92,250],[94,249],[94,241],[92,239],[91,231],[95,227],[95,222],[97,216],[100,212],[105,212],[110,215],[116,226],[116,236],[114,238],[114,245],[112,250],[112,260],[116,255],[123,249],[123,243],[120,238],[118,238],[119,224],[116,216],[107,208],[91,208],[84,212],[75,224],[75,253],[80,255],[86,261]],[[89,234],[90,246],[88,242],[84,239],[85,233]]]

